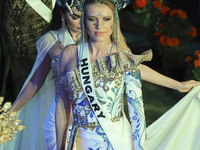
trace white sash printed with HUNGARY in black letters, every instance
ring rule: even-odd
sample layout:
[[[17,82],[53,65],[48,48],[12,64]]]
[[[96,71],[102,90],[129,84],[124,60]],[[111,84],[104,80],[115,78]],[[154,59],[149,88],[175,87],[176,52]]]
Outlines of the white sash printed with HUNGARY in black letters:
[[[79,48],[79,46],[78,46]],[[78,55],[80,59],[80,49],[78,49]],[[99,124],[106,133],[112,147],[114,150],[126,149],[126,145],[123,143],[122,138],[119,136],[115,127],[113,128],[113,123],[107,116],[107,113],[102,108],[101,104],[96,98],[94,90],[94,82],[92,76],[92,68],[90,63],[90,56],[88,50],[88,43],[84,44],[84,53],[82,54],[81,65],[79,66],[81,83],[83,86],[83,91],[85,92],[90,106],[92,107]]]

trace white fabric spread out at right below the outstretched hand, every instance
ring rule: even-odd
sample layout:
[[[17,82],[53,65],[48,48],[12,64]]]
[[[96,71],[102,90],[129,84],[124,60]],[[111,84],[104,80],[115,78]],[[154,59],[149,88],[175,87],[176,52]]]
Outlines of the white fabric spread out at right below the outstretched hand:
[[[200,86],[147,128],[148,150],[200,150]]]

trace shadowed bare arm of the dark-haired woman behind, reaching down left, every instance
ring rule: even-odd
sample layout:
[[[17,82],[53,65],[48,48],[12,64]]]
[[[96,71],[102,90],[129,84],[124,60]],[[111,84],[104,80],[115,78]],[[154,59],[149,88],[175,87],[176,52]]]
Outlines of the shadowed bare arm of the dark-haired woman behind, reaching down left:
[[[42,87],[50,68],[51,59],[47,54],[26,87],[12,104],[9,110],[10,112],[19,111],[35,95],[35,93],[37,93],[37,91]]]

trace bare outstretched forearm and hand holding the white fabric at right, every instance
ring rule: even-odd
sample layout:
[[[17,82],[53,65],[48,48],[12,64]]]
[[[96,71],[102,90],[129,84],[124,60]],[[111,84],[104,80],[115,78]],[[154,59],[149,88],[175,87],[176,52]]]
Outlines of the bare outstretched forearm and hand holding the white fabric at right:
[[[167,76],[164,76],[146,65],[140,64],[142,80],[178,90],[179,92],[189,92],[194,86],[200,86],[200,82],[195,80],[179,82]]]

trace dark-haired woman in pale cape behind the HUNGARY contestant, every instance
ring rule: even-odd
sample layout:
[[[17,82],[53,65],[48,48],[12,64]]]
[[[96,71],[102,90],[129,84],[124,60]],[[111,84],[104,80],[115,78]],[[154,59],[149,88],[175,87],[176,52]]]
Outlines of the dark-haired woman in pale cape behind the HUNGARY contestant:
[[[74,6],[75,1],[68,4],[68,7],[55,5],[48,32],[36,43],[38,55],[32,71],[9,110],[18,111],[25,129],[14,140],[1,144],[0,150],[56,149],[54,116],[59,55],[64,46],[80,39],[80,12]]]

